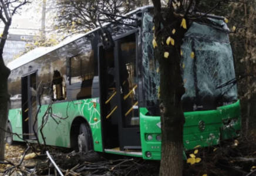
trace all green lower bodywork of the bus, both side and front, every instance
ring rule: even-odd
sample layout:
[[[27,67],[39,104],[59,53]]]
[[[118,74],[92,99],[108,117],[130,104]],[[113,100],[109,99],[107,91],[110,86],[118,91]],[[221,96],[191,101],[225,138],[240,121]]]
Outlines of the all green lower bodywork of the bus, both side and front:
[[[85,117],[93,134],[95,151],[103,151],[102,133],[100,124],[100,104],[99,99],[78,100],[52,104],[52,116],[45,116],[45,127],[43,134],[46,137],[47,145],[59,147],[70,147],[70,128],[75,117]],[[38,126],[42,125],[42,117],[48,106],[42,106],[38,114]],[[21,109],[9,110],[9,120],[11,121],[14,133],[22,134]],[[68,114],[67,114],[68,113]],[[146,108],[140,108],[140,129],[142,139],[142,154],[144,159],[161,159],[161,141],[156,137],[161,134],[160,117],[146,116]],[[192,150],[197,145],[207,147],[217,145],[221,140],[237,136],[236,131],[241,129],[240,101],[227,106],[219,107],[217,110],[194,111],[184,113],[186,123],[184,124],[184,150]],[[62,119],[60,119],[61,117]],[[95,121],[97,119],[97,121]],[[205,128],[200,131],[199,121],[204,121]],[[58,123],[58,124],[57,124]],[[42,136],[39,134],[39,141],[43,143]],[[147,140],[151,135],[153,139]],[[22,141],[14,136],[15,141]],[[146,152],[151,152],[151,157],[146,157]],[[107,153],[120,154],[107,151]],[[130,156],[132,154],[124,154]],[[184,157],[185,156],[185,157]],[[183,155],[186,158],[186,155]]]

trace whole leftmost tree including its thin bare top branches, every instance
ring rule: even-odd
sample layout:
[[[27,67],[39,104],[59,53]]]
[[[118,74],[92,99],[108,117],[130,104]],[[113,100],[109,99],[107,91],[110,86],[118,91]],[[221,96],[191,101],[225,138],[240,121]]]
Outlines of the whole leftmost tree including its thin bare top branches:
[[[0,19],[4,23],[4,31],[1,36],[0,41],[0,128],[6,129],[8,121],[8,77],[10,70],[5,66],[3,51],[5,47],[6,38],[8,36],[8,31],[12,23],[12,16],[21,8],[23,5],[28,3],[29,0],[1,0],[0,1]],[[4,130],[0,130],[0,159],[4,158],[5,154],[5,136]]]

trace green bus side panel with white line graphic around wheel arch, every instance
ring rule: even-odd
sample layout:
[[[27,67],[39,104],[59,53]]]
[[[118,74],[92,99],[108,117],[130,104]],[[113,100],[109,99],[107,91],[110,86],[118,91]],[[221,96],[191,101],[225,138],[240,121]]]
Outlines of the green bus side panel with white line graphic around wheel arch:
[[[97,102],[99,102],[99,99],[86,99],[52,104],[52,116],[50,116],[50,114],[45,116],[46,124],[45,127],[43,127],[46,144],[70,147],[72,121],[75,117],[85,117],[92,130],[94,150],[103,151],[100,104]],[[41,112],[38,114],[38,126],[42,125],[42,117],[47,109],[48,106],[41,107]],[[39,134],[39,141],[43,143],[41,134]]]

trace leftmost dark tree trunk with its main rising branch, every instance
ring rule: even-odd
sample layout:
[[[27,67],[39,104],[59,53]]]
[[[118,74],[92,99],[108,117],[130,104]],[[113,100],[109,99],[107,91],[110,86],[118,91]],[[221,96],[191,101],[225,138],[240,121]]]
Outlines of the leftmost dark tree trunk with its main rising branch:
[[[0,160],[5,156],[5,143],[6,143],[6,127],[8,122],[8,77],[11,71],[5,66],[3,52],[6,38],[11,25],[12,19],[10,18],[5,24],[4,32],[0,42]]]

